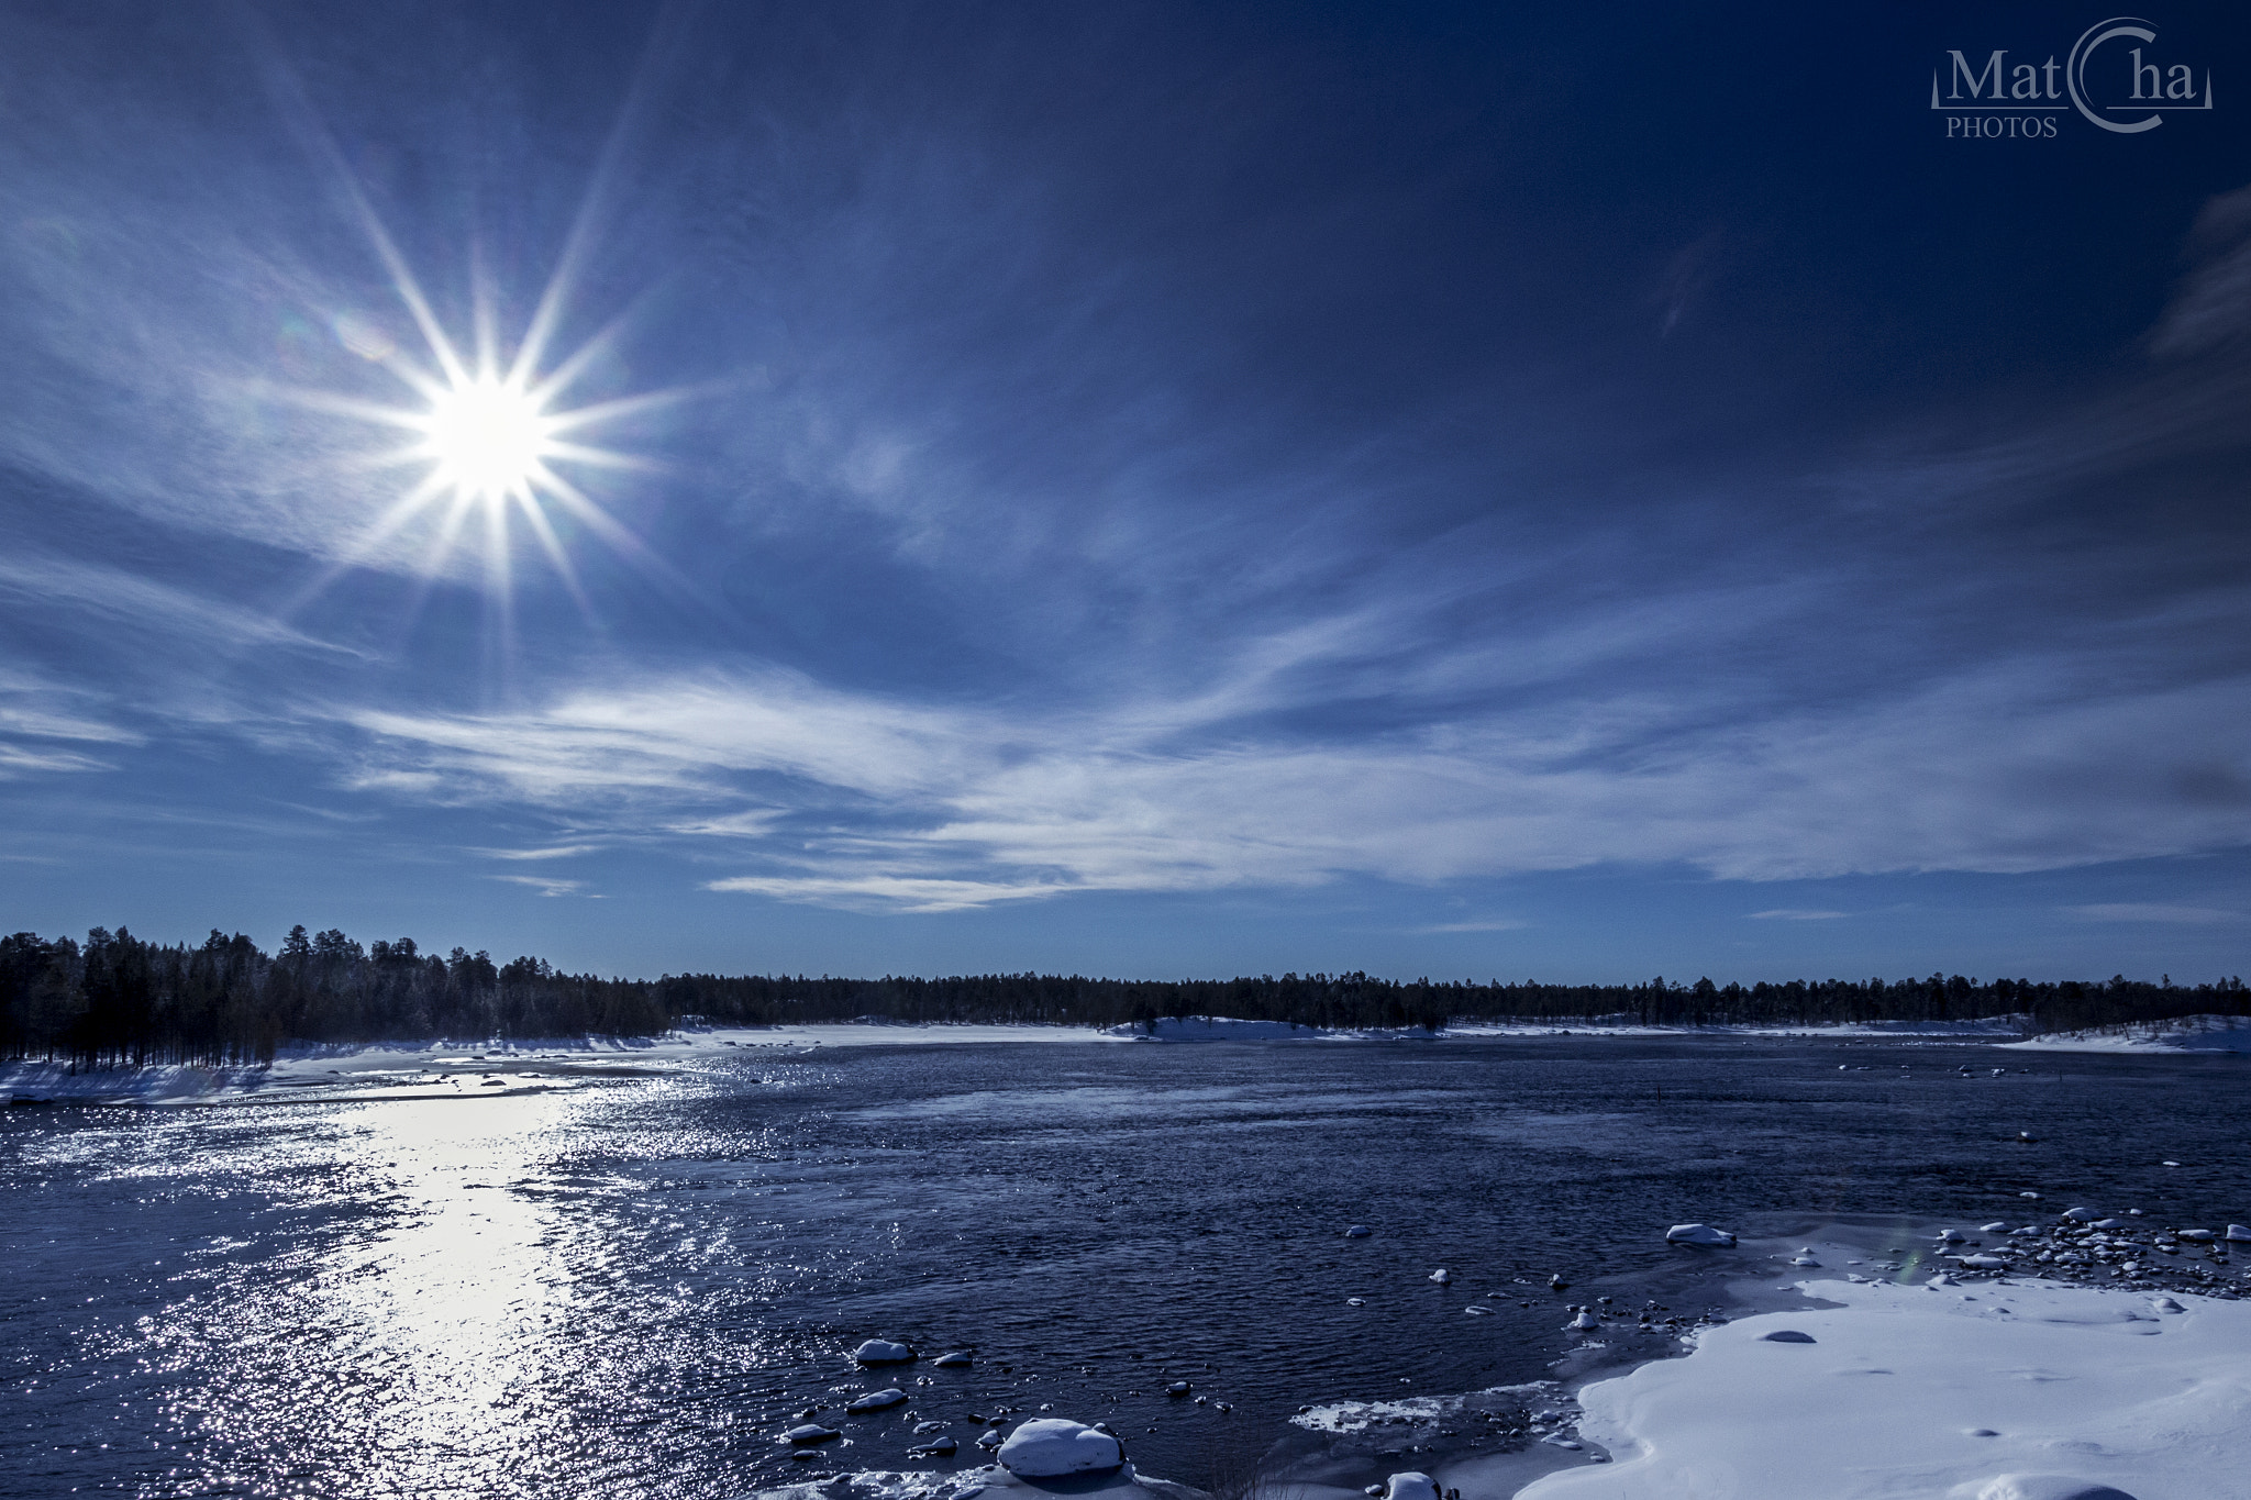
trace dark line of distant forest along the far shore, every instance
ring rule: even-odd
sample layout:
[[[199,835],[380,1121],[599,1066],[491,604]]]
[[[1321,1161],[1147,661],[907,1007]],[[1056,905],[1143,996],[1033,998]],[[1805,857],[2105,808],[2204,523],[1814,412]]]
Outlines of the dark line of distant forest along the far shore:
[[[2015,1016],[2026,1030],[2080,1030],[2192,1014],[2251,1014],[2242,978],[2210,985],[2109,981],[1790,981],[1783,985],[1542,985],[1366,974],[1261,974],[1211,981],[1119,981],[1060,974],[959,978],[806,978],[563,974],[545,958],[495,965],[488,954],[425,954],[412,938],[360,947],[329,929],[290,929],[279,954],[250,938],[144,942],[95,929],[86,942],[0,938],[0,1057],[79,1066],[270,1061],[288,1041],[425,1037],[646,1037],[682,1019],[732,1025],[790,1021],[1150,1023],[1236,1016],[1324,1028],[1429,1028],[1447,1021],[1643,1025],[1828,1025]]]

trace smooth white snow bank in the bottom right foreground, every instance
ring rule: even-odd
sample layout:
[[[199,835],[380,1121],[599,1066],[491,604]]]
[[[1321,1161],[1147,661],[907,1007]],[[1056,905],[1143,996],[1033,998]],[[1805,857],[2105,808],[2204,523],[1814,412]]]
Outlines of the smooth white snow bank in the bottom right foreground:
[[[2242,1484],[2251,1302],[1976,1282],[1801,1282],[1760,1313],[1580,1390],[1616,1462],[1519,1500],[2224,1496]],[[1812,1343],[1778,1343],[1778,1331]],[[1445,1482],[1445,1473],[1441,1473]]]

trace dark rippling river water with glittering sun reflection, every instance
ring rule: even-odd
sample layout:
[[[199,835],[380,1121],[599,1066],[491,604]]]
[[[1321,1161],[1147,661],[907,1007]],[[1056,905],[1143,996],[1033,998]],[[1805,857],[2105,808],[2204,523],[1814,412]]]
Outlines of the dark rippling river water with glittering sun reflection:
[[[1661,1244],[1679,1219],[2251,1219],[2246,1100],[2231,1057],[1542,1039],[14,1109],[0,1493],[741,1496],[804,1478],[795,1412],[887,1383],[952,1421],[957,1466],[968,1412],[1051,1406],[1198,1482],[1299,1403],[1542,1379],[1569,1298],[1711,1304]],[[869,1379],[844,1354],[871,1336],[977,1367]],[[907,1466],[898,1415],[842,1426],[819,1469]]]

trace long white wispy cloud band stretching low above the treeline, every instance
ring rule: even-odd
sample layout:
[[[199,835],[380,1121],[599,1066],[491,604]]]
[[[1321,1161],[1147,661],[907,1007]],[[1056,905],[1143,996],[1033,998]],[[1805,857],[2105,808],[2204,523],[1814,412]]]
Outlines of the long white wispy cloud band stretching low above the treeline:
[[[1429,884],[1605,861],[1731,879],[2021,873],[2251,839],[2251,794],[2226,760],[2251,715],[2244,684],[2089,697],[2080,672],[2012,661],[1720,724],[1636,693],[1355,740],[1254,729],[1231,693],[1204,695],[1227,706],[1198,720],[1182,704],[932,708],[795,675],[574,693],[509,715],[347,717],[380,767],[362,787],[725,837],[768,868],[714,888],[831,904]],[[2102,796],[2082,796],[2091,787]]]

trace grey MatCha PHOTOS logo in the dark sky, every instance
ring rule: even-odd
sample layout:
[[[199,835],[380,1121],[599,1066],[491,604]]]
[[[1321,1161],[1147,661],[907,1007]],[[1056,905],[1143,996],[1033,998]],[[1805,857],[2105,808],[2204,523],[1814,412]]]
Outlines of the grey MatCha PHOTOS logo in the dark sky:
[[[2165,115],[2210,110],[2213,70],[2199,79],[2159,49],[2152,22],[2114,16],[2087,27],[2062,63],[2053,52],[2026,63],[2006,47],[1985,58],[1949,49],[1931,70],[1931,108],[1949,117],[1947,139],[2055,139],[2055,121],[2071,112],[2111,135],[2141,135]]]

